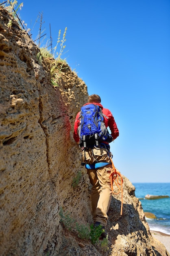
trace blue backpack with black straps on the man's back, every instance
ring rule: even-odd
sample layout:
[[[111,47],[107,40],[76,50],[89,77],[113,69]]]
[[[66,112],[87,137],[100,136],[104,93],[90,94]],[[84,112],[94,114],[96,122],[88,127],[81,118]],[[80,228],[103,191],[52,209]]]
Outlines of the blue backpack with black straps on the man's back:
[[[88,104],[83,106],[79,118],[78,135],[80,146],[87,148],[95,145],[99,146],[101,141],[112,141],[112,137],[104,123],[102,109],[98,105]],[[109,117],[106,118],[108,119]]]

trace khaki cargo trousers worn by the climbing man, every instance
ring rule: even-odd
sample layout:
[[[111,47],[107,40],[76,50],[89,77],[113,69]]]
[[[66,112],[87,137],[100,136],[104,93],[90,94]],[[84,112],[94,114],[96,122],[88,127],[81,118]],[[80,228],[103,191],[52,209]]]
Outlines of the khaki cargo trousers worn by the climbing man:
[[[97,169],[87,169],[90,183],[92,184],[92,213],[94,222],[98,221],[107,225],[107,212],[111,202],[111,182],[109,173],[111,171],[110,155],[105,148],[89,148],[83,150],[83,161],[87,164],[96,162],[107,162],[109,165]]]

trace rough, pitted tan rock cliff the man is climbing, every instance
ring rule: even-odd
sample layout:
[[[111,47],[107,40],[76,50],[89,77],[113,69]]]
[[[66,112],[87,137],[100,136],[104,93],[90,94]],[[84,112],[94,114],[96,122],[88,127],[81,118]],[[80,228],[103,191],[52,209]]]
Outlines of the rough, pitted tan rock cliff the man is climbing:
[[[87,86],[65,66],[54,88],[51,61],[40,63],[38,52],[0,7],[0,255],[169,255],[151,236],[126,177],[123,215],[120,194],[109,209],[107,252],[61,225],[61,207],[78,223],[92,223],[91,188],[72,137]],[[72,186],[78,172],[80,181]]]

